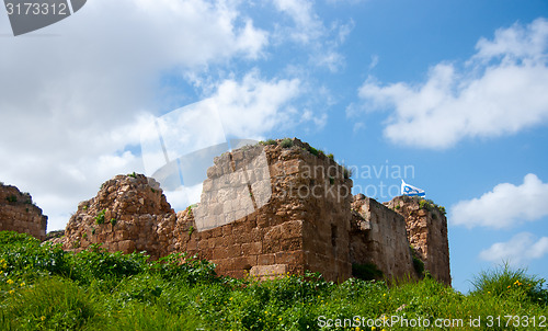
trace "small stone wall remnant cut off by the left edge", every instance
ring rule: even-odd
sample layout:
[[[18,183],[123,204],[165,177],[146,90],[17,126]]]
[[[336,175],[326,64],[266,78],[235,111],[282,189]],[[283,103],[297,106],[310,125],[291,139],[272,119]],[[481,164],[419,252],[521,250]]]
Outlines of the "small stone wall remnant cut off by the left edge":
[[[28,193],[15,186],[0,184],[0,230],[46,238],[47,216],[33,204]]]

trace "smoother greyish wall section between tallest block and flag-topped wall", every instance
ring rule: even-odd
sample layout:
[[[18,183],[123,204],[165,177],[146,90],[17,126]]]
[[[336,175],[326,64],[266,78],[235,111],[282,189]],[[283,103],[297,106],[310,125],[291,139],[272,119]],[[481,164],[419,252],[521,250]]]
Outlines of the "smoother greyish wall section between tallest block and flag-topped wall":
[[[363,194],[354,197],[352,209],[352,263],[373,263],[389,278],[415,277],[406,219]]]

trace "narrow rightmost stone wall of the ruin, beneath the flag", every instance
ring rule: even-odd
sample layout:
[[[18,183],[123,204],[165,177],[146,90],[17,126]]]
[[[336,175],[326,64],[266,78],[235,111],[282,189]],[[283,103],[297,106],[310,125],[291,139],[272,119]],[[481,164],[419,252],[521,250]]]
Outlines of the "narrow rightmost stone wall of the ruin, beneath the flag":
[[[397,196],[387,206],[406,218],[409,242],[424,262],[424,270],[450,285],[447,218],[434,204]]]

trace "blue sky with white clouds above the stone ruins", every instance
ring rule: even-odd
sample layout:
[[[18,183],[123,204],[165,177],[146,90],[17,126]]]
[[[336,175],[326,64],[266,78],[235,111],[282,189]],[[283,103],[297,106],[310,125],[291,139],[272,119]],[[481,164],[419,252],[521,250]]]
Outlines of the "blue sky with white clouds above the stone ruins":
[[[90,0],[16,37],[2,9],[0,181],[62,229],[104,181],[149,174],[155,118],[207,104],[227,139],[334,153],[354,194],[425,190],[457,289],[504,262],[548,278],[547,91],[544,0]]]

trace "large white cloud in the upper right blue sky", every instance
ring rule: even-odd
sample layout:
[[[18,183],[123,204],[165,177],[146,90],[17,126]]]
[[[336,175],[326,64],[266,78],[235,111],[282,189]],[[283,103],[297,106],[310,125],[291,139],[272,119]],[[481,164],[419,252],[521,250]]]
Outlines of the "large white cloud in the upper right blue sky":
[[[384,130],[393,142],[443,149],[515,134],[548,122],[547,46],[548,21],[514,24],[481,38],[463,70],[441,62],[419,84],[368,78],[358,94],[369,110],[393,110]]]

